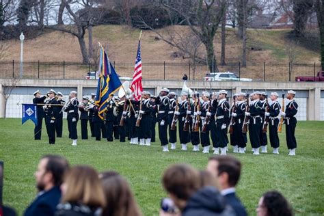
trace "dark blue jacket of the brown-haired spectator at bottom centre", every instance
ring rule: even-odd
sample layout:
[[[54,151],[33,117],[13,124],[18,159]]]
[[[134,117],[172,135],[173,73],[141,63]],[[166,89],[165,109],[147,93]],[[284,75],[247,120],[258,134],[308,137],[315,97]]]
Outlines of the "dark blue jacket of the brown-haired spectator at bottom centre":
[[[206,186],[189,198],[182,216],[234,216],[224,197],[215,187]]]

